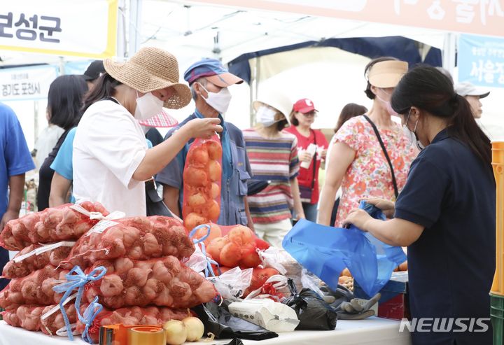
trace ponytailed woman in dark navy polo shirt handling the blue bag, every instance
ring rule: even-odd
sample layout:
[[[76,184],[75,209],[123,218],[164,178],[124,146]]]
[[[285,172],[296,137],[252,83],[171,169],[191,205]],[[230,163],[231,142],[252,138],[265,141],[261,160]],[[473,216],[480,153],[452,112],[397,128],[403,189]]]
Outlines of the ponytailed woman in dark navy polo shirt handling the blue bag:
[[[370,200],[393,219],[374,220],[354,210],[345,223],[387,244],[408,246],[414,345],[491,345],[496,185],[490,141],[468,102],[433,67],[409,71],[392,106],[412,143],[425,149],[412,163],[395,209],[391,202]]]

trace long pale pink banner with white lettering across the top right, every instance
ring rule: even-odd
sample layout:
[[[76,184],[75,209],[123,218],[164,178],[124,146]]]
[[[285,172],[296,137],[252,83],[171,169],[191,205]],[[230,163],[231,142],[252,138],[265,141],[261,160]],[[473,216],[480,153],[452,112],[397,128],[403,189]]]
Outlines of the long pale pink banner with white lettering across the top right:
[[[504,36],[504,0],[193,0],[363,22]]]

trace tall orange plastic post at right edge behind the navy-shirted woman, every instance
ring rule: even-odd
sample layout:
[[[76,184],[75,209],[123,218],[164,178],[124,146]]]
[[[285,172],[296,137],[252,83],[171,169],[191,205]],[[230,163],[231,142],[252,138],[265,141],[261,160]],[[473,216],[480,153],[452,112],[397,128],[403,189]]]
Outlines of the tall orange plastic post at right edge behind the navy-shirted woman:
[[[504,141],[492,143],[492,167],[496,178],[496,273],[492,295],[504,296]],[[501,321],[502,322],[502,321]],[[502,337],[502,328],[500,328]],[[501,342],[498,344],[502,344]]]

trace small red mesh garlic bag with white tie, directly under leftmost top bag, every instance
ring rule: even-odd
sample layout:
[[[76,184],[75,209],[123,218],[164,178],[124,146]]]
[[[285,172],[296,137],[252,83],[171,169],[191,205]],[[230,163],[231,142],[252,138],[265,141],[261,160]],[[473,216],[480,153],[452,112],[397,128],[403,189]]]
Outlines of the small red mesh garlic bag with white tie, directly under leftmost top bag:
[[[73,246],[72,242],[61,243],[65,245],[40,254],[36,254],[35,251],[37,249],[43,249],[45,246],[40,244],[31,244],[30,246],[27,246],[25,249],[16,254],[13,260],[7,262],[7,264],[3,267],[2,276],[7,279],[22,278],[37,269],[42,269],[47,265],[57,267],[60,262],[66,259],[71,251],[71,247]],[[29,254],[31,255],[27,258],[23,258]],[[16,262],[17,259],[21,258],[23,258],[21,261]]]

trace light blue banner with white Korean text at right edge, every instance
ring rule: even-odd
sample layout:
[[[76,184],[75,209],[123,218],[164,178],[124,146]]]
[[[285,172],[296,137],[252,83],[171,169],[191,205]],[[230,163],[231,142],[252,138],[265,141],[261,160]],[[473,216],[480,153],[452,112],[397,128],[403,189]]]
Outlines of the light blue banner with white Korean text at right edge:
[[[504,87],[504,38],[461,35],[458,80],[485,87]]]

